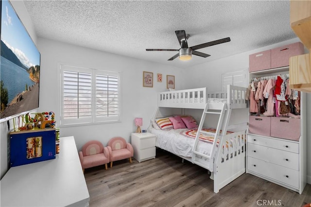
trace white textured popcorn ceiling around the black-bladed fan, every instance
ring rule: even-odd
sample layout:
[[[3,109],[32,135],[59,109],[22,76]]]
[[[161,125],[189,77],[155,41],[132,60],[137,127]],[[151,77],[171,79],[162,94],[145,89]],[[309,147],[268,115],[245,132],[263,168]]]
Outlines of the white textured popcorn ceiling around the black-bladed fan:
[[[290,28],[290,4],[280,1],[128,1],[25,0],[38,37],[179,68],[254,50],[296,37]],[[167,61],[179,49],[175,30],[190,35],[189,47],[230,37],[198,50],[190,61]]]

